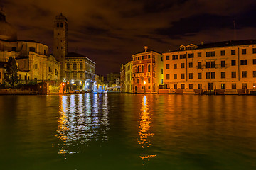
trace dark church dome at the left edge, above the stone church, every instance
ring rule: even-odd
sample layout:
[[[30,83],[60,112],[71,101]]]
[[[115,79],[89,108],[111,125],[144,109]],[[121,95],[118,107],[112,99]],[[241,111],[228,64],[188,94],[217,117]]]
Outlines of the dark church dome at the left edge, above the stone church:
[[[0,11],[0,39],[1,40],[17,40],[17,31],[6,22],[6,16],[3,11]]]

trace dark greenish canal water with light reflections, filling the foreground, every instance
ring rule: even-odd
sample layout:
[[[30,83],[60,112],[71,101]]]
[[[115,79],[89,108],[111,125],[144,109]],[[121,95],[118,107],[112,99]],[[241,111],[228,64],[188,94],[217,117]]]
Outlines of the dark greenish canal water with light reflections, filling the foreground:
[[[256,169],[256,96],[0,96],[0,169]]]

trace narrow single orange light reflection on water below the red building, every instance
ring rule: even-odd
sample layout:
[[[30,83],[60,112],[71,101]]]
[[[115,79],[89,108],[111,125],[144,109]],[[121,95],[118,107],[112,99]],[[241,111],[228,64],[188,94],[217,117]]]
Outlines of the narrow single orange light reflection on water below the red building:
[[[151,146],[151,137],[153,137],[154,133],[150,132],[150,124],[151,117],[149,115],[149,104],[147,101],[147,96],[143,96],[142,98],[142,113],[140,114],[140,122],[139,122],[139,145],[142,148],[146,149]],[[142,160],[146,159],[149,161],[150,157],[156,157],[155,154],[144,154],[140,155]],[[144,164],[144,163],[143,163]]]

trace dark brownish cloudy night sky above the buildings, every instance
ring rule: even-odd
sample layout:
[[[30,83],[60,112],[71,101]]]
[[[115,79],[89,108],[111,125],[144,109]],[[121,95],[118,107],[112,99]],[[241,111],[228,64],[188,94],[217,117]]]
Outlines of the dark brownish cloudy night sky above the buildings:
[[[50,52],[53,21],[62,12],[69,52],[89,57],[102,75],[119,72],[144,45],[167,52],[202,41],[256,38],[255,0],[1,0],[1,5],[19,40],[36,40]]]

